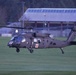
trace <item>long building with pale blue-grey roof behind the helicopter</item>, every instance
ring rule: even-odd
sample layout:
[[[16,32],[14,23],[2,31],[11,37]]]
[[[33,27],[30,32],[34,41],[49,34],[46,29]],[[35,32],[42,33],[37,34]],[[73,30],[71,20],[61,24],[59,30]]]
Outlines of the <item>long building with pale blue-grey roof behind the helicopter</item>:
[[[26,26],[63,29],[76,25],[76,8],[28,8],[19,19]],[[62,34],[62,33],[61,33]]]

